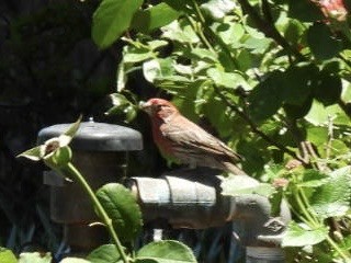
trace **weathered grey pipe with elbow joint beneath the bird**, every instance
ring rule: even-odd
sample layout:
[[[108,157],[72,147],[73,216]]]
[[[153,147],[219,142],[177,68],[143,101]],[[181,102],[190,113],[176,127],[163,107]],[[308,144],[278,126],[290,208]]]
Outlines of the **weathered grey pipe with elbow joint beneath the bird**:
[[[258,184],[250,176],[237,176],[247,186]],[[239,221],[245,231],[238,239],[247,247],[248,262],[284,262],[279,244],[291,220],[287,205],[282,203],[281,214],[273,217],[267,197],[224,196],[220,183],[222,176],[213,170],[182,169],[159,179],[133,178],[128,185],[137,196],[146,222],[161,220],[173,228],[204,229]]]

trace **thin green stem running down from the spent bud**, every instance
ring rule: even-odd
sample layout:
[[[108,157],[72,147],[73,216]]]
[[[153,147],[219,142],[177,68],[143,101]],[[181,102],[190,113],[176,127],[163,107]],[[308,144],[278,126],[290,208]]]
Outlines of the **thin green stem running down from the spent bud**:
[[[55,170],[57,171],[57,169]],[[123,245],[117,237],[117,233],[113,228],[111,218],[109,217],[107,213],[101,205],[100,201],[98,199],[97,195],[94,194],[94,192],[92,191],[92,188],[90,187],[86,179],[81,175],[81,173],[75,168],[75,165],[71,162],[67,163],[67,165],[60,169],[58,172],[63,173],[65,176],[69,174],[71,179],[77,180],[77,182],[82,186],[82,188],[86,191],[86,193],[89,195],[90,199],[92,201],[93,205],[95,206],[98,210],[98,215],[101,217],[102,221],[105,224],[107,231],[122,258],[122,261],[124,263],[128,263],[129,262],[128,256],[125,254],[123,250]]]

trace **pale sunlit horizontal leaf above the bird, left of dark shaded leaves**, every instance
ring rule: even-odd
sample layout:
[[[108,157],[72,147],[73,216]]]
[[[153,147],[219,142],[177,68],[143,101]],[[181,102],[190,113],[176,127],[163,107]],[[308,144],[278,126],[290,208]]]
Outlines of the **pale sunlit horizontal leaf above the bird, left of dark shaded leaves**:
[[[226,87],[235,89],[238,85],[247,87],[247,82],[240,73],[237,72],[224,72],[217,68],[210,68],[207,70],[207,76],[215,82],[218,87]]]

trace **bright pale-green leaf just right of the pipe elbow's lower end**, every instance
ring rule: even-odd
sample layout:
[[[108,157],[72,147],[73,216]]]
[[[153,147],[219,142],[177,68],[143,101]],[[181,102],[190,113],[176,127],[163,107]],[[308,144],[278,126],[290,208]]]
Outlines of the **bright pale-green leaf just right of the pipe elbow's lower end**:
[[[328,228],[312,229],[305,224],[291,221],[283,237],[282,247],[305,247],[320,243],[328,237]]]

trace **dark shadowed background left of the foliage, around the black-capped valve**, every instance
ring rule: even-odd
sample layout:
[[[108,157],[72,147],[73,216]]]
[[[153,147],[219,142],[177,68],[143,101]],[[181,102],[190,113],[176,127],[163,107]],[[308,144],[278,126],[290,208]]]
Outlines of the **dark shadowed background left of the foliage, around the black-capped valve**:
[[[91,41],[99,2],[0,1],[0,247],[16,253],[55,253],[61,232],[49,220],[44,165],[15,156],[36,145],[42,128],[75,122],[79,114],[126,125],[104,115],[107,95],[115,92],[122,43],[99,50]],[[155,94],[140,76],[132,76],[129,85],[138,99]],[[150,141],[146,116],[138,114],[128,126]],[[134,160],[144,174],[156,174],[165,164],[155,147],[145,145]]]

